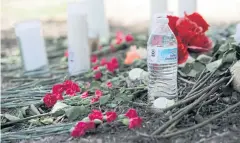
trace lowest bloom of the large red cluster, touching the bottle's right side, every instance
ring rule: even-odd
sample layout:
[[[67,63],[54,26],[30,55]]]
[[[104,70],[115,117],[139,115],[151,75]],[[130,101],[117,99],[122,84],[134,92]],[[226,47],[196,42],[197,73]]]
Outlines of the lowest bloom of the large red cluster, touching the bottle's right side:
[[[176,38],[178,42],[178,64],[182,64],[187,61],[189,54],[187,46],[182,43],[179,37]]]

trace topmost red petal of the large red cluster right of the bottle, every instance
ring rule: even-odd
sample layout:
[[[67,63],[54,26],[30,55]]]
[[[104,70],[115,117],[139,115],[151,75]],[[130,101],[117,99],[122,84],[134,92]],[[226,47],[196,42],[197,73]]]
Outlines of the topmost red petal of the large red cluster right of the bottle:
[[[200,26],[202,28],[202,32],[206,32],[208,30],[209,27],[208,23],[203,19],[203,17],[199,13],[194,12],[190,15],[187,15],[185,13],[185,17],[187,17],[191,21],[195,22],[198,26]]]

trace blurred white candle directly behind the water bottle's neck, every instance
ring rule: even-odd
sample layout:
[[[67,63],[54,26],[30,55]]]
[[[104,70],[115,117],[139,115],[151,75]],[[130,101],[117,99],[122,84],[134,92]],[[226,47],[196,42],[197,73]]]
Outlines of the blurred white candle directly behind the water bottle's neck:
[[[150,1],[150,23],[152,24],[156,13],[166,13],[168,11],[167,0],[151,0]],[[153,25],[149,24],[149,33]]]

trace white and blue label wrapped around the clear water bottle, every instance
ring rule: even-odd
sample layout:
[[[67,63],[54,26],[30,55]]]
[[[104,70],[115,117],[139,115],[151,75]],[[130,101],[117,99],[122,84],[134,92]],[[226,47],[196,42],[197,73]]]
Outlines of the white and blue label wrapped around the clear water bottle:
[[[171,64],[177,63],[177,48],[169,47],[149,47],[148,62],[153,64]]]

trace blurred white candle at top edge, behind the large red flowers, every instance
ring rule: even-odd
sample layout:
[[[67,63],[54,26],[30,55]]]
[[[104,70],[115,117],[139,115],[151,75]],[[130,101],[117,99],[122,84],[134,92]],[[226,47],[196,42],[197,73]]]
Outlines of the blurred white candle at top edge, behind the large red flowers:
[[[184,12],[191,14],[197,11],[197,0],[178,0],[178,15],[184,16]]]

